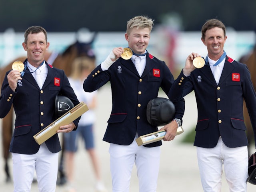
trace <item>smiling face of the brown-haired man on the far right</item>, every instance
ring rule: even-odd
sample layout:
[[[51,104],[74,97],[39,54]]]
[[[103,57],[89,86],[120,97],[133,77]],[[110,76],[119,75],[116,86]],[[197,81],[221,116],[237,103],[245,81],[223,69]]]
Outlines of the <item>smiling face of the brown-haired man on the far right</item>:
[[[207,47],[210,59],[216,61],[222,56],[226,39],[227,36],[224,35],[222,28],[214,27],[206,30],[205,37],[201,40]]]

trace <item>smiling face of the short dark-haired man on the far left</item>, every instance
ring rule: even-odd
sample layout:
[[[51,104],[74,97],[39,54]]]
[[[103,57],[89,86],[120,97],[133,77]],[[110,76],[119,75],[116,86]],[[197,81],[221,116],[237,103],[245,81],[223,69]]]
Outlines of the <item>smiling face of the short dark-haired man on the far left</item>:
[[[50,43],[46,42],[46,37],[43,32],[28,34],[26,43],[22,43],[24,50],[27,52],[28,62],[38,67],[44,60],[46,50]]]

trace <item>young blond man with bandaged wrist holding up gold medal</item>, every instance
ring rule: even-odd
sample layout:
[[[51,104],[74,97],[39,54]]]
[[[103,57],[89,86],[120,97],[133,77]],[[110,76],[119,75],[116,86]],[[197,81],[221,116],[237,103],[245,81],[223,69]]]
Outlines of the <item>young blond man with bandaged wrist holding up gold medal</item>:
[[[160,164],[157,141],[138,146],[136,138],[158,131],[146,118],[146,107],[158,96],[161,87],[168,94],[174,78],[165,62],[147,50],[153,20],[136,16],[127,22],[125,39],[128,48],[116,47],[84,81],[84,90],[92,92],[108,81],[112,89],[112,112],[103,140],[110,143],[112,191],[128,192],[134,163],[137,167],[140,192],[155,192]],[[176,118],[163,127],[165,141],[174,139],[184,114],[184,101],[175,103]],[[177,121],[177,122],[176,122]]]

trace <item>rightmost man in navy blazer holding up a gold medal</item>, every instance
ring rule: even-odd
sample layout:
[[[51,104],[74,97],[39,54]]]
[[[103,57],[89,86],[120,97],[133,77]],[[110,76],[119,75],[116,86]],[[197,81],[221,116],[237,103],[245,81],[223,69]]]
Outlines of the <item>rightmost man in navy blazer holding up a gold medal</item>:
[[[194,146],[204,192],[221,191],[222,166],[230,191],[247,191],[244,100],[256,141],[256,93],[250,72],[245,64],[227,56],[226,39],[224,24],[218,19],[207,20],[201,38],[208,50],[205,61],[192,52],[169,94],[178,101],[194,90],[198,110]]]

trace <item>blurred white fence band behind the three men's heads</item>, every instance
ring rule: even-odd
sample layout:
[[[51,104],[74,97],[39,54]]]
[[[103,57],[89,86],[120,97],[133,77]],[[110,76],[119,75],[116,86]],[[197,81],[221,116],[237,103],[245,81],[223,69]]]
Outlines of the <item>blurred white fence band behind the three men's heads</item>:
[[[117,46],[128,46],[125,38],[125,32],[98,32],[93,43],[93,49],[96,54],[97,63],[100,64],[110,53],[112,48]],[[79,35],[79,40],[88,42],[92,38],[93,32],[84,32]],[[253,31],[234,31],[227,30],[228,36],[224,50],[228,56],[235,60],[250,51],[255,42],[256,34]],[[76,32],[48,32],[48,42],[50,42],[50,51],[62,52],[67,46],[76,41]],[[174,41],[171,41],[173,38]],[[169,57],[166,50],[172,50],[172,56],[176,67],[183,67],[184,61],[191,52],[198,52],[201,56],[206,56],[206,46],[202,43],[200,32],[166,32],[166,30],[153,30],[150,38],[148,51],[161,60],[167,60]],[[24,42],[24,33],[14,32],[7,29],[0,33],[0,67],[5,66],[18,56],[26,56],[22,48]],[[174,42],[170,44],[170,42]],[[170,48],[170,46],[172,46]]]

